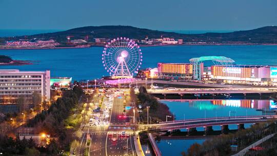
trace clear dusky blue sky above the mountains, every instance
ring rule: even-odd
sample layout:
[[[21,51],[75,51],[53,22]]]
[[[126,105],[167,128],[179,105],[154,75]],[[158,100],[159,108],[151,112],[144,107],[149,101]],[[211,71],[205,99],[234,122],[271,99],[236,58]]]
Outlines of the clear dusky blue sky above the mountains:
[[[277,25],[276,0],[0,0],[0,29],[130,25],[154,30],[248,30]]]

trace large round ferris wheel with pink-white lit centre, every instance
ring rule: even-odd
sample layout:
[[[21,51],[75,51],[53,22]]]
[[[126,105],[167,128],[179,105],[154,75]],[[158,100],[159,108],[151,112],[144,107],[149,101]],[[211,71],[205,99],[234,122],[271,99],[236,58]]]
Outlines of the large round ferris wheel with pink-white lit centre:
[[[142,61],[140,46],[126,37],[111,40],[102,53],[103,66],[113,77],[132,77],[138,73]]]

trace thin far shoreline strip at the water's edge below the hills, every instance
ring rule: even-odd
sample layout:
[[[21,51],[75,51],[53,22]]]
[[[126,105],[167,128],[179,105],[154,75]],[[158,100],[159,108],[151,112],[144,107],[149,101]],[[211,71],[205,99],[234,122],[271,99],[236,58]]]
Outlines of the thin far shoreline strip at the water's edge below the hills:
[[[162,46],[276,46],[276,44],[175,44],[175,45],[138,45],[140,47],[162,47]],[[90,47],[52,47],[52,48],[0,48],[0,50],[33,50],[33,49],[75,49],[75,48],[91,48],[104,47],[104,45]]]

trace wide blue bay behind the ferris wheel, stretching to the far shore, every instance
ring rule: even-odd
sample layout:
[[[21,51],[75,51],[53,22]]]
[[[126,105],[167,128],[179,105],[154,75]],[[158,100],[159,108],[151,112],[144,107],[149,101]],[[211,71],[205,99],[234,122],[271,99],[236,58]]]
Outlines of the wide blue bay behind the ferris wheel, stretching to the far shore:
[[[236,64],[277,65],[277,46],[156,46],[141,47],[142,68],[156,67],[158,62],[189,63],[192,57],[223,55]],[[93,80],[107,75],[102,47],[80,49],[0,50],[14,60],[37,61],[33,65],[0,66],[0,69],[51,70],[51,76],[70,76],[73,80]],[[209,65],[211,62],[205,62]]]

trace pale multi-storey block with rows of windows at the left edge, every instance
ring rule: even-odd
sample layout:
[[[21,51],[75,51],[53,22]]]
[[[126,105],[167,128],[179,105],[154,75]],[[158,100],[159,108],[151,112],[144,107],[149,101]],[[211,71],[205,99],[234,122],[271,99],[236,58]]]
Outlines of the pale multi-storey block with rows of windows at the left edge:
[[[50,100],[50,70],[0,70],[0,103],[19,96],[31,97],[34,92],[41,94],[43,100]]]

